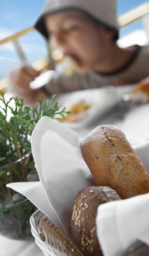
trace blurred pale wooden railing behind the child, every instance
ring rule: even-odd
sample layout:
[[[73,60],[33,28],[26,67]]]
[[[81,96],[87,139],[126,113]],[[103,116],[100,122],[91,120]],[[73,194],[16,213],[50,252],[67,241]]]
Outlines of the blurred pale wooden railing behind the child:
[[[118,23],[120,24],[121,27],[124,27],[124,26],[127,26],[130,23],[142,18],[144,15],[146,15],[148,13],[149,13],[149,2],[146,2],[143,5],[138,6],[137,8],[132,9],[129,12],[118,17]],[[7,38],[1,39],[0,46],[11,41],[11,43],[14,45],[14,47],[16,49],[17,55],[19,56],[20,60],[21,61],[26,60],[26,56],[21,48],[21,45],[18,42],[18,38],[32,32],[32,31],[34,31],[33,26],[29,27],[27,29],[24,29],[20,32],[17,32],[13,35],[10,35]],[[45,67],[50,67],[51,64],[53,65],[50,47],[47,43],[46,43],[46,48],[47,48],[47,52],[48,52],[49,61],[44,61],[42,58],[42,59],[32,63],[32,66],[37,70],[43,69]],[[8,79],[2,79],[0,81],[0,90],[6,88],[7,84],[8,84]]]

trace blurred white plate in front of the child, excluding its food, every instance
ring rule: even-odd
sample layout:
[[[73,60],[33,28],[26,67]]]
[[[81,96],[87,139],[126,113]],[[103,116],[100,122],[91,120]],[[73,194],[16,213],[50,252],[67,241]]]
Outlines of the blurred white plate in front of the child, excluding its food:
[[[92,122],[95,122],[103,116],[106,111],[120,102],[122,96],[132,90],[132,87],[134,87],[134,85],[120,87],[109,86],[58,95],[56,101],[61,104],[62,107],[66,107],[67,110],[69,110],[74,103],[81,100],[92,106],[89,110],[89,115],[85,116],[80,122],[63,122],[63,124],[72,129],[91,125]]]

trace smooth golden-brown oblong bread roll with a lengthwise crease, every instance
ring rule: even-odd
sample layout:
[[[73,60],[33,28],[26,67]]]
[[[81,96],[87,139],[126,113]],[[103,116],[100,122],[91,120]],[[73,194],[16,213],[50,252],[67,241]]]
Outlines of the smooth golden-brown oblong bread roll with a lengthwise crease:
[[[122,199],[149,192],[149,175],[119,129],[95,128],[83,142],[82,156],[97,186],[109,186]]]

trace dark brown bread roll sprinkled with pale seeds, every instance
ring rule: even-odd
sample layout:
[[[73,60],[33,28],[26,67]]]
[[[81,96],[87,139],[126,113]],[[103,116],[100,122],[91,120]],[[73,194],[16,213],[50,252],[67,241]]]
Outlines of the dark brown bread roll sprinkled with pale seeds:
[[[103,256],[96,235],[97,207],[115,200],[120,200],[120,197],[109,187],[88,187],[77,194],[73,204],[71,228],[84,256]]]

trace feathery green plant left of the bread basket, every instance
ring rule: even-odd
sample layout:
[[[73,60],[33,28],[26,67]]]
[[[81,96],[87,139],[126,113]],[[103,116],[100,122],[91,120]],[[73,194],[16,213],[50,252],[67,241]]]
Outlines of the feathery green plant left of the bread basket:
[[[40,118],[48,116],[58,120],[70,112],[66,108],[61,109],[57,102],[51,106],[56,95],[46,102],[43,95],[37,105],[31,106],[25,106],[23,99],[18,97],[6,102],[3,92],[0,92],[0,96],[0,217],[5,219],[5,213],[9,211],[13,220],[18,220],[14,221],[14,226],[19,232],[22,230],[22,226],[19,226],[22,218],[32,212],[33,205],[23,204],[17,210],[13,207],[10,209],[10,205],[14,204],[12,197],[15,192],[6,188],[6,184],[27,181],[27,175],[34,172],[30,138]],[[18,159],[20,161],[16,162]],[[21,198],[19,203],[23,200]]]

